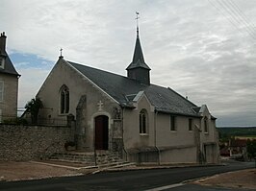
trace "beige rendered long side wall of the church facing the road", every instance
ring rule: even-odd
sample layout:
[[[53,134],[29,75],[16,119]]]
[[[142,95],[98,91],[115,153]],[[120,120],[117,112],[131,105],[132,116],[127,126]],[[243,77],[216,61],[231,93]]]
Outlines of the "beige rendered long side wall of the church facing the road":
[[[159,152],[158,162],[164,164],[196,163],[199,161],[198,152],[200,150],[208,160],[207,162],[218,162],[218,136],[215,120],[212,120],[211,117],[208,121],[208,132],[204,132],[203,118],[188,116],[175,116],[176,131],[170,131],[171,114],[155,112],[146,96],[143,95],[134,106],[136,108],[124,108],[123,110],[124,143],[128,152],[143,147],[153,148],[153,150],[155,148]],[[147,134],[140,134],[141,109],[146,109],[148,113]],[[208,110],[202,113],[202,115],[206,114],[211,116]],[[189,131],[189,118],[192,119],[192,131]],[[195,134],[195,128],[199,129],[198,136]],[[209,144],[211,146],[207,146],[207,151],[205,151],[204,145]],[[132,155],[134,158],[134,154]],[[144,157],[150,157],[148,154],[144,155]]]

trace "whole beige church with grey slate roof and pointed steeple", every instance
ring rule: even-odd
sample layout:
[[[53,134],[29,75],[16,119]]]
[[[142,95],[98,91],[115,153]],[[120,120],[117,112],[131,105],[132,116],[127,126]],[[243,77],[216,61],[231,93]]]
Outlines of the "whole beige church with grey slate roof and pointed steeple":
[[[118,152],[138,163],[218,163],[216,118],[173,89],[150,83],[137,27],[127,77],[64,60],[38,90],[38,120],[75,121],[80,152]]]

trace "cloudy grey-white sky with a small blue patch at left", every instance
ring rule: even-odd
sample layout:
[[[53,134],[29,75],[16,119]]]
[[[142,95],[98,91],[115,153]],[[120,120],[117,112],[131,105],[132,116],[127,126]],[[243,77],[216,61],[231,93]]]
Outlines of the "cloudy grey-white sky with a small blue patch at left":
[[[21,74],[18,107],[61,48],[65,60],[126,76],[136,12],[152,84],[206,104],[218,127],[256,126],[255,0],[1,0],[0,31]]]

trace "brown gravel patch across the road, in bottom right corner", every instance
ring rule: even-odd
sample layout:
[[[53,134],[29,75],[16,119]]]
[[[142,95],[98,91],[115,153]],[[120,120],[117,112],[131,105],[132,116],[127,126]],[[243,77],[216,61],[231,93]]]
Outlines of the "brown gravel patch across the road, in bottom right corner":
[[[246,169],[199,179],[196,184],[256,190],[256,169]]]

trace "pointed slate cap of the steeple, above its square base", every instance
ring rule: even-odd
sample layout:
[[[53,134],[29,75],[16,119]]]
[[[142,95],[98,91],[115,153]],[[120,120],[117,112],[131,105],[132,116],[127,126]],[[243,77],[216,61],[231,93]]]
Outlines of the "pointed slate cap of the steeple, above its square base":
[[[126,70],[140,68],[140,67],[151,70],[144,61],[144,57],[141,49],[141,41],[139,36],[139,27],[137,26],[137,38],[136,38],[136,44],[134,49],[134,57],[133,57],[133,61],[126,68]]]

